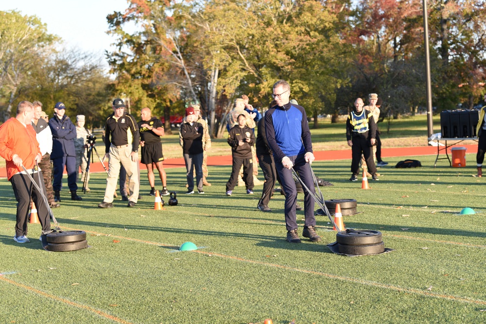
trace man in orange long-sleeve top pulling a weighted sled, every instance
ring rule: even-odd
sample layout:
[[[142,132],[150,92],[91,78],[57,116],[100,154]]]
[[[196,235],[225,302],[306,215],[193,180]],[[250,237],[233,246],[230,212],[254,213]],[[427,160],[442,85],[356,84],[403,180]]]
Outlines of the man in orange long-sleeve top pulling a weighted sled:
[[[35,130],[31,125],[34,118],[34,105],[23,101],[17,106],[17,116],[8,119],[0,126],[0,156],[5,159],[7,178],[15,191],[17,205],[17,224],[15,226],[14,240],[18,243],[27,243],[27,216],[30,207],[30,198],[37,206],[39,221],[42,225],[42,236],[51,232],[49,209],[42,199],[47,197],[42,172],[35,168],[42,159],[39,143],[35,138]],[[33,186],[25,169],[32,175],[35,183],[42,189],[39,192]]]

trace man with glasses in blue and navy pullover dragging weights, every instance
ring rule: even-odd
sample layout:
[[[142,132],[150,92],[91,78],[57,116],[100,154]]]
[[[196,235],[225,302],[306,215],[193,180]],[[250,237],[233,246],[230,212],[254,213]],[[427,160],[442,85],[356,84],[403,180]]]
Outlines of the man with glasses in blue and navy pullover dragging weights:
[[[307,163],[312,163],[311,131],[307,114],[302,106],[290,103],[290,85],[279,80],[273,86],[272,97],[277,105],[265,113],[265,131],[270,149],[273,151],[275,167],[280,175],[285,192],[285,225],[287,241],[300,243],[297,233],[295,203],[297,189],[292,176],[292,168],[299,174],[305,185],[315,193],[312,173]],[[305,227],[302,235],[312,242],[321,238],[315,232],[314,201],[309,192],[304,192]]]

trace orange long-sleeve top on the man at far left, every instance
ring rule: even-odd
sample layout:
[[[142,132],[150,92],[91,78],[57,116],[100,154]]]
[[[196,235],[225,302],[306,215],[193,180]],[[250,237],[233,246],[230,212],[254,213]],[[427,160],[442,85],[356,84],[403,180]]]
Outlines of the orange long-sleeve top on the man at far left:
[[[14,154],[22,159],[25,169],[33,169],[35,156],[40,154],[39,143],[35,138],[35,130],[32,125],[24,126],[16,118],[5,121],[0,126],[0,156],[5,159],[7,178],[21,171],[12,161]]]

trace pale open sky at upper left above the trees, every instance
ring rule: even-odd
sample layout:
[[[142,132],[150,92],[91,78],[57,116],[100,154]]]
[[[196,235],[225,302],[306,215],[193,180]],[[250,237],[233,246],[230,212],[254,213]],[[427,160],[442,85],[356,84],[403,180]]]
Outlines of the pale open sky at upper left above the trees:
[[[106,34],[106,16],[126,8],[127,0],[0,0],[0,11],[35,15],[47,24],[50,34],[64,40],[65,47],[77,47],[103,58],[115,41]]]

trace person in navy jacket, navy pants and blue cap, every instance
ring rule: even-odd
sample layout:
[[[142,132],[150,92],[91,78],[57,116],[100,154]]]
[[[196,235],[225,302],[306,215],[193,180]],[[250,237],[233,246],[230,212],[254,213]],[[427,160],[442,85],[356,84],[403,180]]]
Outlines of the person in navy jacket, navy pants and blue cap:
[[[49,119],[49,126],[52,132],[52,153],[51,160],[54,166],[54,201],[61,201],[62,173],[66,166],[68,172],[68,187],[71,191],[71,200],[83,200],[77,195],[76,185],[76,153],[74,151],[74,138],[76,138],[76,127],[66,113],[64,103],[57,102],[54,106],[54,117]]]

